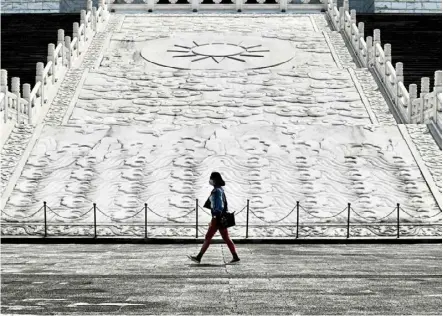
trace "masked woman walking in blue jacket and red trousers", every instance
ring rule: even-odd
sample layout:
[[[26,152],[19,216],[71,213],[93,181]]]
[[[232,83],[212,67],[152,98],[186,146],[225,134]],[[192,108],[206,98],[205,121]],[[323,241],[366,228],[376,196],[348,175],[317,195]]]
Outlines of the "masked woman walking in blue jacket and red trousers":
[[[232,260],[230,263],[238,262],[240,261],[240,258],[237,255],[234,243],[229,237],[228,229],[221,227],[219,224],[220,215],[227,208],[226,196],[222,188],[223,186],[225,186],[225,181],[223,181],[220,173],[213,172],[211,173],[211,177],[209,178],[209,184],[214,186],[214,189],[212,190],[209,197],[212,219],[209,223],[208,232],[205,236],[205,242],[203,243],[199,254],[197,256],[189,256],[189,258],[194,262],[200,263],[201,258],[203,257],[206,250],[209,248],[212,237],[214,237],[215,233],[218,230],[220,231],[220,235],[222,236],[223,240],[228,245],[228,248],[231,251]]]

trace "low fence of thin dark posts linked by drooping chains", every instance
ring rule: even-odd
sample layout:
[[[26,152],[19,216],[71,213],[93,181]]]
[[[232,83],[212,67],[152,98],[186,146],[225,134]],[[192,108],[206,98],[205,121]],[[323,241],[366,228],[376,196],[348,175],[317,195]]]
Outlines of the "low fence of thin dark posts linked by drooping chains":
[[[199,213],[199,211],[201,213]],[[245,212],[245,211],[246,211],[245,221],[238,221],[238,215],[242,212]],[[49,205],[47,205],[46,202],[43,202],[42,207],[40,207],[36,212],[34,212],[31,215],[26,216],[26,217],[18,218],[17,216],[10,215],[4,211],[1,211],[1,212],[2,212],[2,217],[3,217],[2,222],[1,222],[2,227],[5,227],[5,226],[8,226],[8,227],[21,226],[21,227],[23,227],[26,225],[28,225],[28,226],[43,225],[43,232],[42,233],[34,233],[33,235],[48,237],[49,236],[49,233],[48,233],[49,227],[53,227],[53,226],[91,227],[92,226],[93,227],[93,234],[91,234],[91,235],[88,234],[87,236],[91,236],[93,238],[97,238],[99,236],[98,231],[97,231],[98,228],[109,227],[109,226],[115,226],[115,227],[126,226],[126,227],[143,227],[143,230],[144,230],[143,237],[147,239],[149,229],[152,229],[154,227],[166,227],[168,225],[169,226],[172,225],[175,227],[183,227],[183,228],[187,228],[187,229],[195,229],[195,238],[198,238],[199,236],[201,236],[199,228],[202,227],[202,225],[199,225],[199,215],[201,215],[203,213],[203,214],[211,216],[211,213],[209,210],[205,210],[203,207],[201,207],[199,205],[198,199],[195,200],[195,208],[192,208],[188,212],[186,212],[185,214],[182,214],[182,215],[176,216],[176,217],[162,215],[159,212],[156,212],[152,208],[150,208],[147,203],[144,203],[143,207],[138,209],[136,213],[131,214],[130,216],[127,216],[125,218],[115,218],[111,215],[106,214],[106,212],[102,211],[97,206],[96,203],[93,203],[92,207],[89,210],[87,210],[84,213],[81,213],[80,215],[78,215],[75,218],[73,218],[72,216],[64,216],[58,212],[55,212],[54,210],[51,209],[51,207],[49,207]],[[76,222],[77,220],[86,218],[86,216],[89,216],[91,213],[92,213],[92,217],[93,217],[91,223]],[[136,221],[136,222],[126,222],[129,219],[136,218],[137,216],[139,216],[142,213],[144,215],[143,220],[138,219],[138,221]],[[159,218],[166,219],[167,222],[149,223],[148,222],[148,214],[149,213],[152,213]],[[189,222],[189,220],[188,220],[186,222],[178,222],[178,223],[176,222],[175,224],[171,224],[171,221],[177,221],[179,219],[187,218],[192,213],[195,213],[195,221],[194,222]],[[292,219],[292,221],[290,221],[289,223],[288,222],[283,223],[284,220],[287,220],[291,216],[291,214],[294,214],[294,213],[295,213],[295,219]],[[394,215],[395,217],[391,216],[394,213],[395,213],[395,215]],[[48,221],[49,214],[53,214],[55,218],[68,220],[68,222],[52,222],[52,223],[50,223]],[[105,223],[97,222],[97,214],[103,215],[104,217],[109,219],[109,221],[105,222]],[[266,220],[263,217],[261,217],[260,215],[258,215],[257,211],[254,211],[253,208],[251,209],[250,201],[247,200],[246,205],[240,211],[234,212],[234,214],[237,215],[237,221],[238,221],[237,225],[236,225],[237,226],[236,229],[239,229],[239,227],[244,229],[243,236],[246,239],[250,238],[250,230],[251,229],[281,228],[281,227],[291,228],[293,235],[289,235],[288,237],[295,238],[295,239],[308,237],[308,236],[304,236],[301,234],[300,231],[303,228],[328,229],[331,227],[341,227],[342,230],[345,231],[346,239],[349,239],[351,237],[356,237],[356,236],[352,235],[353,228],[370,228],[370,227],[385,227],[385,228],[389,227],[390,229],[388,229],[388,231],[389,231],[388,234],[378,235],[378,236],[383,236],[383,237],[400,238],[402,235],[401,234],[401,227],[433,227],[438,232],[436,234],[433,234],[433,236],[435,236],[435,237],[441,236],[441,219],[437,222],[433,222],[433,223],[429,222],[429,220],[431,220],[435,217],[441,216],[441,214],[442,214],[441,211],[437,212],[436,214],[433,214],[432,216],[414,216],[410,212],[404,210],[400,206],[399,203],[397,203],[397,205],[387,215],[385,215],[381,218],[378,218],[375,221],[373,221],[373,220],[371,220],[371,218],[364,216],[364,215],[360,214],[359,212],[357,212],[351,206],[351,203],[348,203],[345,208],[343,208],[342,210],[340,210],[339,212],[337,212],[335,214],[323,216],[323,215],[315,214],[314,210],[310,210],[310,209],[303,207],[300,204],[300,202],[297,201],[296,205],[286,215],[282,216],[279,219]],[[306,214],[308,217],[314,218],[315,221],[314,222],[302,221],[300,219],[301,214]],[[337,221],[337,218],[339,218],[339,216],[342,214],[343,214],[343,216],[340,218],[342,221],[341,220]],[[43,215],[43,218],[41,218],[42,217],[41,215]],[[410,220],[409,221],[402,221],[401,220],[402,215],[409,216]],[[40,216],[38,221],[33,220],[36,216]],[[363,222],[357,222],[355,220],[352,221],[352,219],[354,217],[358,218],[359,220],[362,220]],[[251,224],[251,219],[258,220],[258,223]],[[329,220],[330,221],[332,219],[334,219],[336,222],[321,222],[320,221],[320,220]],[[423,222],[424,219],[428,220],[428,221]],[[26,220],[26,221],[23,221],[23,220]],[[295,233],[294,233],[294,230],[295,230]],[[394,234],[391,233],[392,231],[394,231]],[[2,230],[2,235],[5,236],[5,234],[3,234],[3,230]],[[52,235],[52,236],[56,236],[56,235]],[[180,237],[180,236],[175,236],[175,237]]]

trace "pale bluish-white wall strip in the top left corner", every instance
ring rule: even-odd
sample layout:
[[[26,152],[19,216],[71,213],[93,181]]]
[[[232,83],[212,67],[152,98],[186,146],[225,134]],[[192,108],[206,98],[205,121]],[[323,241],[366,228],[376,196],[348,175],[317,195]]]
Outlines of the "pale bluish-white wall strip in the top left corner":
[[[60,0],[1,0],[1,13],[58,13]]]

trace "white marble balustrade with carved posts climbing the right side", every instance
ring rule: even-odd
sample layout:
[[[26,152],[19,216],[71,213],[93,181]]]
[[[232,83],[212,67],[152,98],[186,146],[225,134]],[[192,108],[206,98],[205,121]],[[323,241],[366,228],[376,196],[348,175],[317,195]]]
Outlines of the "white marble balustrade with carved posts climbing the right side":
[[[374,36],[368,36],[365,40],[364,23],[357,24],[356,12],[349,11],[348,0],[344,0],[343,7],[339,9],[334,0],[328,0],[328,16],[334,29],[352,47],[360,65],[375,71],[403,122],[432,122],[441,134],[441,70],[435,72],[433,91],[429,89],[429,78],[422,78],[420,95],[417,95],[416,85],[410,85],[408,91],[403,84],[403,64],[392,65],[391,45],[382,46],[380,30],[374,30]]]

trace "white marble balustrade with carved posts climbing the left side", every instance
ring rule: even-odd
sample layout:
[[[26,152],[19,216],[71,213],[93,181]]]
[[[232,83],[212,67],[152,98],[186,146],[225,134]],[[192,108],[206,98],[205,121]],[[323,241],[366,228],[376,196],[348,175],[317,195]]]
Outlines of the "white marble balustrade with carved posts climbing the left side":
[[[86,50],[95,32],[105,24],[107,16],[106,0],[101,0],[98,9],[92,7],[89,0],[88,12],[82,10],[80,24],[74,23],[72,41],[69,36],[64,36],[64,30],[58,30],[57,46],[48,45],[46,65],[37,63],[36,84],[32,90],[30,84],[24,84],[21,92],[20,79],[14,77],[9,91],[8,73],[1,70],[0,126],[8,122],[36,123],[41,108],[48,102],[48,95],[55,95],[57,83],[63,80],[66,71]]]

